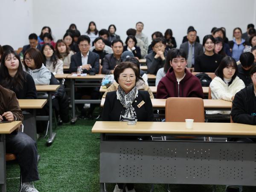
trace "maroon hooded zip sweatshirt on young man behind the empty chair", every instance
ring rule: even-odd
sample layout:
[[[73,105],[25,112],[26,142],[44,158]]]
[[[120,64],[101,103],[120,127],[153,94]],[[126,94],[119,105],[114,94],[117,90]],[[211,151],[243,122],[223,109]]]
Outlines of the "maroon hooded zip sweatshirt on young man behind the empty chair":
[[[157,86],[157,99],[168,97],[200,97],[204,99],[202,85],[196,76],[185,69],[186,75],[178,82],[171,67]]]

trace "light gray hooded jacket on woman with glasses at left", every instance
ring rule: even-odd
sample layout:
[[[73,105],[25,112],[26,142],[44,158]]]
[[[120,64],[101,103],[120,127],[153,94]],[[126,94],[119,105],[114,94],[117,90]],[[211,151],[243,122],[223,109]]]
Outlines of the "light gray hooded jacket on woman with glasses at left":
[[[26,72],[33,77],[35,85],[50,84],[51,72],[44,66],[44,64],[42,64],[40,69],[31,70],[28,68]]]

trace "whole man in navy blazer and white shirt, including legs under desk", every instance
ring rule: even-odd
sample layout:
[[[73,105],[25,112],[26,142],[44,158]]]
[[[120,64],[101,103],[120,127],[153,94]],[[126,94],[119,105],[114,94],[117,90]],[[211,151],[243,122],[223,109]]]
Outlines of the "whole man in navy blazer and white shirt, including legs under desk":
[[[77,68],[81,66],[83,73],[99,73],[99,55],[97,53],[89,51],[90,49],[90,38],[87,35],[81,35],[77,44],[80,52],[71,56],[70,62],[70,73],[76,73]],[[75,93],[75,99],[81,99],[83,95],[90,95],[91,99],[99,98],[99,87],[78,87]],[[81,116],[85,116],[86,111],[82,108],[83,105],[78,105],[81,109]],[[91,119],[93,110],[96,104],[90,104],[90,109],[87,116]]]

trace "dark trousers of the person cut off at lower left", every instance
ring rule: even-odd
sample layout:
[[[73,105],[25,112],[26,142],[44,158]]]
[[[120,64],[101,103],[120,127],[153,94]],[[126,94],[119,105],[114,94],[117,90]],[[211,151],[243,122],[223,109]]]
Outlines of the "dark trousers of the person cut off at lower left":
[[[6,153],[16,155],[22,182],[39,180],[37,145],[31,137],[22,132],[6,134]]]

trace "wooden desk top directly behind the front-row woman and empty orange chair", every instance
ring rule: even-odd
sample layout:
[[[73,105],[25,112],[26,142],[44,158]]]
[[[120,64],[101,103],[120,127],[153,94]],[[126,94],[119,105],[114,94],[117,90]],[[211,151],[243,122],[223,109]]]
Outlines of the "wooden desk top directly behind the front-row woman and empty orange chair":
[[[100,106],[103,107],[105,98],[102,98]],[[151,99],[153,108],[165,108],[166,99]],[[204,99],[204,108],[223,108],[227,109],[232,107],[232,102],[222,99]]]

